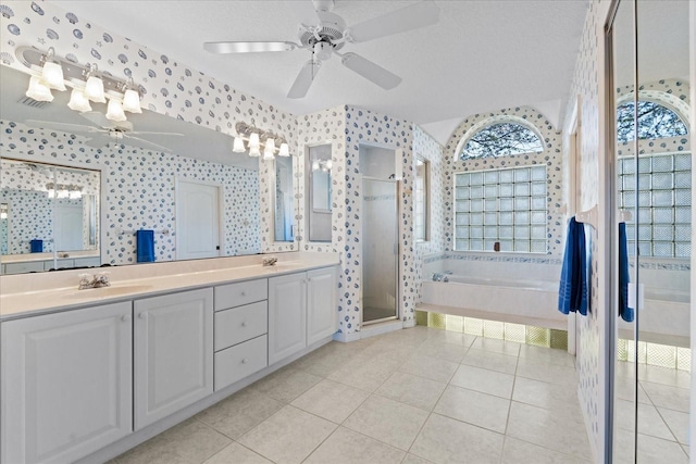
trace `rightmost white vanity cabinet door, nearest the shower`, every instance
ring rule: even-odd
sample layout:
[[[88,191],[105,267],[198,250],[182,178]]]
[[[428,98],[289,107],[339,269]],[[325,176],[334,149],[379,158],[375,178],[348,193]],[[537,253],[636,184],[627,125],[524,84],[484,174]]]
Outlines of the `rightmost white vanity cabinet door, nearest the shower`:
[[[336,268],[307,273],[307,344],[310,346],[336,333]]]

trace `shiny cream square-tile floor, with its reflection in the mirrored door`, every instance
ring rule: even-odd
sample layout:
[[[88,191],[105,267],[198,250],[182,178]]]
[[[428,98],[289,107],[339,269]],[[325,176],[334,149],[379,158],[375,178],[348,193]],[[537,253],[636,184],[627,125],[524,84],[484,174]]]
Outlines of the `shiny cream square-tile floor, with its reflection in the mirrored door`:
[[[666,424],[644,448],[686,462],[683,385],[643,376]],[[564,351],[419,326],[328,343],[114,463],[583,463],[584,430]]]

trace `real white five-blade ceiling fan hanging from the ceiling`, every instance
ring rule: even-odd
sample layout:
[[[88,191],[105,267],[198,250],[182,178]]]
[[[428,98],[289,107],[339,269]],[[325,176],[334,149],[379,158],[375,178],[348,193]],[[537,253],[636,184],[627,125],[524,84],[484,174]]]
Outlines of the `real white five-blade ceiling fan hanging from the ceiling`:
[[[378,64],[352,52],[340,53],[346,43],[365,42],[437,23],[439,8],[433,2],[421,1],[382,16],[373,17],[348,27],[337,14],[332,13],[334,0],[286,0],[300,20],[299,43],[289,41],[219,41],[204,42],[212,53],[249,53],[310,50],[309,60],[298,74],[287,97],[297,99],[307,95],[322,62],[332,54],[340,57],[347,68],[360,74],[385,90],[395,88],[401,77]]]

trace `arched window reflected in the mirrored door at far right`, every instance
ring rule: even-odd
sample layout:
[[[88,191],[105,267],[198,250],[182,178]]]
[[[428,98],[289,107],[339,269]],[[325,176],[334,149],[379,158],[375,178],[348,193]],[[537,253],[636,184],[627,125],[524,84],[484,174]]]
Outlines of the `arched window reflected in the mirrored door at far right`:
[[[629,101],[617,109],[617,139],[626,143],[634,137],[635,103]],[[638,100],[638,140],[685,136],[686,125],[667,106],[647,100]]]

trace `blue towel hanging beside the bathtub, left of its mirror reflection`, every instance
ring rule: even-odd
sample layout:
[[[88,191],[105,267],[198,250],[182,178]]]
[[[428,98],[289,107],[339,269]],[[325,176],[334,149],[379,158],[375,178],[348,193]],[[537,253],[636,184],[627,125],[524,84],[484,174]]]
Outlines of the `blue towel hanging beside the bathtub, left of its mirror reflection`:
[[[571,217],[566,236],[566,254],[558,288],[558,311],[587,315],[587,277],[585,271],[585,226]]]

